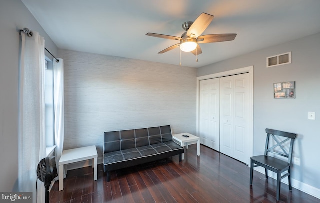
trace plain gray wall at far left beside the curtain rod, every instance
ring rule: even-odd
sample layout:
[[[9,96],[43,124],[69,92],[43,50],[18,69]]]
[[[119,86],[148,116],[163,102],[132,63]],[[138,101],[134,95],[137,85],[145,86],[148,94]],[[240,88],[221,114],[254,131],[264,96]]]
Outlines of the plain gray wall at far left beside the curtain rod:
[[[17,191],[19,32],[38,31],[45,47],[58,49],[20,0],[0,1],[0,191]],[[50,56],[51,57],[51,56]],[[34,171],[36,172],[36,171]]]

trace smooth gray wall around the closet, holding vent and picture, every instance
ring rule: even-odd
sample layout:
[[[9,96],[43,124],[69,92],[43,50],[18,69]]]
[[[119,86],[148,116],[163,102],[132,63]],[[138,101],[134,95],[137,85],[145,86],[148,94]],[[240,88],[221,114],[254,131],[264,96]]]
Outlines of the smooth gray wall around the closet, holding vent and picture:
[[[254,66],[253,155],[263,154],[265,128],[297,133],[293,186],[320,198],[320,33],[198,69],[203,76]],[[292,63],[266,68],[266,57],[292,52]],[[273,83],[295,81],[295,99],[274,99]],[[308,120],[307,112],[316,114]]]

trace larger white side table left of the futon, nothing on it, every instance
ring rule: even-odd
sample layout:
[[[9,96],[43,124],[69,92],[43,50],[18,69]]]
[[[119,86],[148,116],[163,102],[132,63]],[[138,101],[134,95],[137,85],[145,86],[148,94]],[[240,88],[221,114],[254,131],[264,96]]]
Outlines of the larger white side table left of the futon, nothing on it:
[[[59,160],[59,191],[63,190],[63,165],[88,159],[92,159],[93,180],[97,180],[98,153],[96,152],[95,145],[68,149],[62,152],[61,158]]]

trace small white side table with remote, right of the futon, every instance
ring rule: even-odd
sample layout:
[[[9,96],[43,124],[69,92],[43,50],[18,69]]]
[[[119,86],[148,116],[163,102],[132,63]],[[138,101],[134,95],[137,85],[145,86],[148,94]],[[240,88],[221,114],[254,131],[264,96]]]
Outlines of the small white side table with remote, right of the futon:
[[[182,135],[188,135],[189,137],[183,137]],[[172,134],[173,141],[177,142],[181,146],[189,148],[190,144],[196,143],[196,155],[200,156],[200,138],[190,133],[184,132],[179,134]],[[182,160],[184,159],[184,153],[182,154]]]

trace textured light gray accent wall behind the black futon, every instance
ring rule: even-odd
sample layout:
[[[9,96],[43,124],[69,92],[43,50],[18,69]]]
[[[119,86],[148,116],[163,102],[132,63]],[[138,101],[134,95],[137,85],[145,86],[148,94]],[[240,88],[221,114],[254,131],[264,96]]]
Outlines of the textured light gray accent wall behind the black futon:
[[[103,132],[171,125],[196,133],[196,68],[59,50],[64,59],[64,149],[96,145]]]

